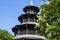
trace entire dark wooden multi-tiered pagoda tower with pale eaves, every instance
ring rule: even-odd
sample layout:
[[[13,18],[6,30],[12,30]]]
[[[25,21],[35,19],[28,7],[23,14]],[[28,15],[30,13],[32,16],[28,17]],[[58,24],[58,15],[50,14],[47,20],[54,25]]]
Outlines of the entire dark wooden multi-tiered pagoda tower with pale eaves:
[[[25,14],[18,17],[21,24],[12,28],[15,35],[13,40],[46,40],[45,37],[39,35],[39,29],[35,28],[39,8],[31,1],[30,5],[23,8],[23,11]]]

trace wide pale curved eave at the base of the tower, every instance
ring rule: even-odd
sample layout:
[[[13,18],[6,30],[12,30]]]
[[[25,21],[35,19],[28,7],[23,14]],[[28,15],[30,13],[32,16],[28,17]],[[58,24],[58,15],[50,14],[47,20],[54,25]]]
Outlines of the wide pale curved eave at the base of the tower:
[[[25,38],[25,39],[42,39],[42,40],[46,40],[45,37],[39,36],[39,35],[17,35],[13,39],[23,39],[23,38]]]

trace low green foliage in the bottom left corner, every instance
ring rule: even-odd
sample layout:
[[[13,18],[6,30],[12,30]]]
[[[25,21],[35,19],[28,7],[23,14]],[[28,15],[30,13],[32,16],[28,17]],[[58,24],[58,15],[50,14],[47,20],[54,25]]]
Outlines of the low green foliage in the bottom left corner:
[[[13,35],[8,33],[6,30],[0,29],[0,40],[12,40]]]

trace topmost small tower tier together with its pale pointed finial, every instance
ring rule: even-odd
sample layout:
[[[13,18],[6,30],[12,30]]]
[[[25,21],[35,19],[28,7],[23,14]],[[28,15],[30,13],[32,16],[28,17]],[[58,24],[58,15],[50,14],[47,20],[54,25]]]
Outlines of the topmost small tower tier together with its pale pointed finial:
[[[36,6],[34,6],[34,5],[33,5],[33,2],[31,1],[31,2],[30,2],[30,5],[25,6],[25,7],[23,8],[23,11],[24,11],[25,13],[29,13],[29,14],[37,14],[37,13],[39,12],[39,8],[36,7]]]

